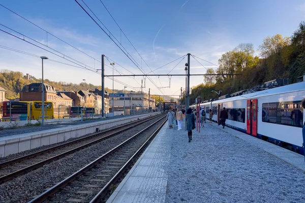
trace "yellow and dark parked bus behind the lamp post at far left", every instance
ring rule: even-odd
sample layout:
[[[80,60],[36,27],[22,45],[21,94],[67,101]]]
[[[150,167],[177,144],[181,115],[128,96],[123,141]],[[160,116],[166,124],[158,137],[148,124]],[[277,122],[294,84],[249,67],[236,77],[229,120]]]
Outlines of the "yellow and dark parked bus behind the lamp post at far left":
[[[45,119],[54,118],[52,101],[44,102]],[[42,101],[3,101],[2,121],[37,120],[42,118]]]

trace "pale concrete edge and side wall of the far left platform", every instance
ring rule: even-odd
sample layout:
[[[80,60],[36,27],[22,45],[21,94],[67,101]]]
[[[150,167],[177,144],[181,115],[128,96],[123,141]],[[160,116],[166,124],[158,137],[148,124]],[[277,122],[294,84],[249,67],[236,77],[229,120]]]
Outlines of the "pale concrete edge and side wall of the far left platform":
[[[98,122],[71,125],[44,131],[35,131],[15,136],[7,136],[0,138],[0,157],[5,157],[10,154],[19,153],[25,150],[35,149],[44,145],[64,142],[70,138],[78,138],[85,134],[93,133],[96,128],[100,130],[111,128],[116,125],[125,124],[138,119],[147,118],[161,114],[161,112],[147,113],[124,118],[111,120],[102,120]]]

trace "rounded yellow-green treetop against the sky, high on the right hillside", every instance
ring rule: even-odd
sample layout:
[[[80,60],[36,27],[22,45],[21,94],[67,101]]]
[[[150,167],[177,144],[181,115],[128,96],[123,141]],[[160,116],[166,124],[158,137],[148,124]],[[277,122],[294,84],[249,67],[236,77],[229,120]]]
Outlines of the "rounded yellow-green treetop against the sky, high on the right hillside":
[[[269,56],[278,53],[283,49],[283,47],[289,45],[289,38],[283,37],[280,34],[275,36],[266,37],[263,41],[263,44],[259,46],[260,55],[264,58],[268,58]]]

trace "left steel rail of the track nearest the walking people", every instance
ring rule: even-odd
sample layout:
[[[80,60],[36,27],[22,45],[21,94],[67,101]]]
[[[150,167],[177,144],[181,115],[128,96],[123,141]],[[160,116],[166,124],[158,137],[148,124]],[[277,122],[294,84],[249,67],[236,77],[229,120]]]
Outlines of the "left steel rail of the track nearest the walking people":
[[[161,119],[159,119],[158,121],[162,120],[163,118],[165,118],[166,116],[162,117]],[[60,191],[63,187],[67,186],[69,183],[71,183],[72,181],[74,181],[77,177],[81,176],[82,174],[84,174],[85,172],[87,172],[88,170],[90,170],[90,168],[93,168],[95,165],[97,165],[98,163],[100,163],[101,161],[103,161],[106,157],[108,157],[109,155],[111,155],[113,152],[115,152],[116,150],[120,149],[120,147],[124,146],[126,143],[128,143],[129,141],[133,140],[134,138],[136,138],[139,134],[141,134],[143,131],[147,130],[148,128],[150,128],[151,126],[155,125],[158,121],[154,122],[153,124],[147,126],[146,128],[144,128],[143,130],[141,130],[140,132],[136,133],[134,136],[132,136],[131,138],[127,139],[126,141],[124,141],[123,143],[119,144],[118,146],[114,147],[113,149],[109,150],[107,153],[103,154],[102,156],[100,156],[99,158],[97,158],[96,160],[92,161],[91,163],[87,164],[86,166],[82,167],[80,170],[78,170],[77,172],[75,172],[74,174],[72,174],[71,176],[69,176],[68,178],[66,178],[65,180],[57,183],[56,185],[54,185],[53,187],[51,187],[50,189],[46,190],[45,192],[43,192],[42,194],[38,195],[37,197],[35,197],[34,199],[32,199],[31,201],[29,201],[28,203],[37,203],[37,202],[43,202],[44,200],[46,200],[49,196],[55,194],[56,192]],[[166,121],[165,121],[166,122]],[[165,123],[163,122],[162,125]]]

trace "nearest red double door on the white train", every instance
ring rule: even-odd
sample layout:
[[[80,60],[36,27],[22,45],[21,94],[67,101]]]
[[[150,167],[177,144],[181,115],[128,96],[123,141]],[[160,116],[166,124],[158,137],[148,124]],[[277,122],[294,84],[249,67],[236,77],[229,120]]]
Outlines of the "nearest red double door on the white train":
[[[247,133],[257,136],[257,99],[247,100]]]

